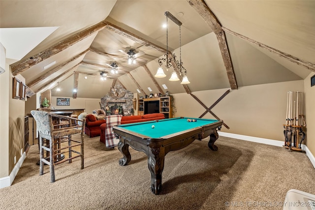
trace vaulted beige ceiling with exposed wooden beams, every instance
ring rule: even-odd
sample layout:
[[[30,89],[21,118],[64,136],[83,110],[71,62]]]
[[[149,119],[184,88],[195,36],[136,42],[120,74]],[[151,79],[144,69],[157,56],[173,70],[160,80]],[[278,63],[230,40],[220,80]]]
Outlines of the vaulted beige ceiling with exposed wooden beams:
[[[179,48],[179,27],[168,20],[168,50],[181,54],[188,85],[168,80],[173,69],[154,77],[166,53],[166,11],[182,22]],[[1,29],[51,33],[10,64],[13,76],[25,77],[29,96],[51,89],[55,96],[101,98],[116,83],[145,95],[164,93],[163,85],[173,94],[301,80],[315,71],[314,23],[313,0],[0,1]],[[17,35],[21,51],[36,38]],[[140,53],[137,64],[127,63],[130,49]]]

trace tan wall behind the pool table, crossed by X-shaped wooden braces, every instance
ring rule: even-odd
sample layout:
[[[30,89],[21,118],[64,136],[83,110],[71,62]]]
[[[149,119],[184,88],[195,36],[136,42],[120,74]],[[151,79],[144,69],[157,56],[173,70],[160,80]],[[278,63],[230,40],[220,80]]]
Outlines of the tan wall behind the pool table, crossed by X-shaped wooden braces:
[[[210,107],[228,89],[193,92]],[[221,131],[284,141],[287,91],[304,91],[304,81],[271,83],[231,90],[211,111],[230,129]],[[189,94],[174,94],[176,117],[199,117],[205,109]],[[209,113],[204,118],[215,119]]]

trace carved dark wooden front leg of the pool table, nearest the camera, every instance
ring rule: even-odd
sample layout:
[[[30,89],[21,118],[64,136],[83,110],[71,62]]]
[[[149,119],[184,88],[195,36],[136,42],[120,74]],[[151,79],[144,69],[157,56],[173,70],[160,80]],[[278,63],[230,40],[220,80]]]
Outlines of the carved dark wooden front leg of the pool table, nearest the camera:
[[[148,167],[151,172],[151,191],[156,195],[158,195],[162,189],[164,156],[164,148],[151,148],[148,154]]]

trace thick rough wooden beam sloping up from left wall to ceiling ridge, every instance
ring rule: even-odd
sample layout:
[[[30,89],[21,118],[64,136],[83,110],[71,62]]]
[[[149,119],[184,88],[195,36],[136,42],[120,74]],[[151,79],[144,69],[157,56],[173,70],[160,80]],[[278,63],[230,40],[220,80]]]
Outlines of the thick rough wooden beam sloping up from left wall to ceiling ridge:
[[[46,49],[43,52],[38,53],[37,55],[32,56],[29,59],[20,60],[18,62],[15,62],[11,64],[11,70],[13,76],[16,76],[17,74],[20,74],[21,72],[31,68],[33,65],[36,65],[37,63],[48,59],[57,53],[63,51],[64,49],[74,45],[75,43],[83,40],[84,38],[92,35],[93,33],[104,29],[106,24],[104,22],[100,22],[98,24],[95,24],[94,26],[81,30],[68,38],[63,39],[63,41],[53,45],[52,47]]]

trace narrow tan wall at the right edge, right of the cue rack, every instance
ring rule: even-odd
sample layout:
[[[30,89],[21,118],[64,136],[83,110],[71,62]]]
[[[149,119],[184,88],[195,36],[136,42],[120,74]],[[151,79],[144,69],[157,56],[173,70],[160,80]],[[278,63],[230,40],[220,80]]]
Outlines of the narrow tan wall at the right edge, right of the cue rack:
[[[305,100],[306,100],[306,136],[307,142],[306,146],[315,156],[315,86],[311,87],[311,77],[315,75],[312,72],[305,80],[304,80],[304,89],[305,89]]]

